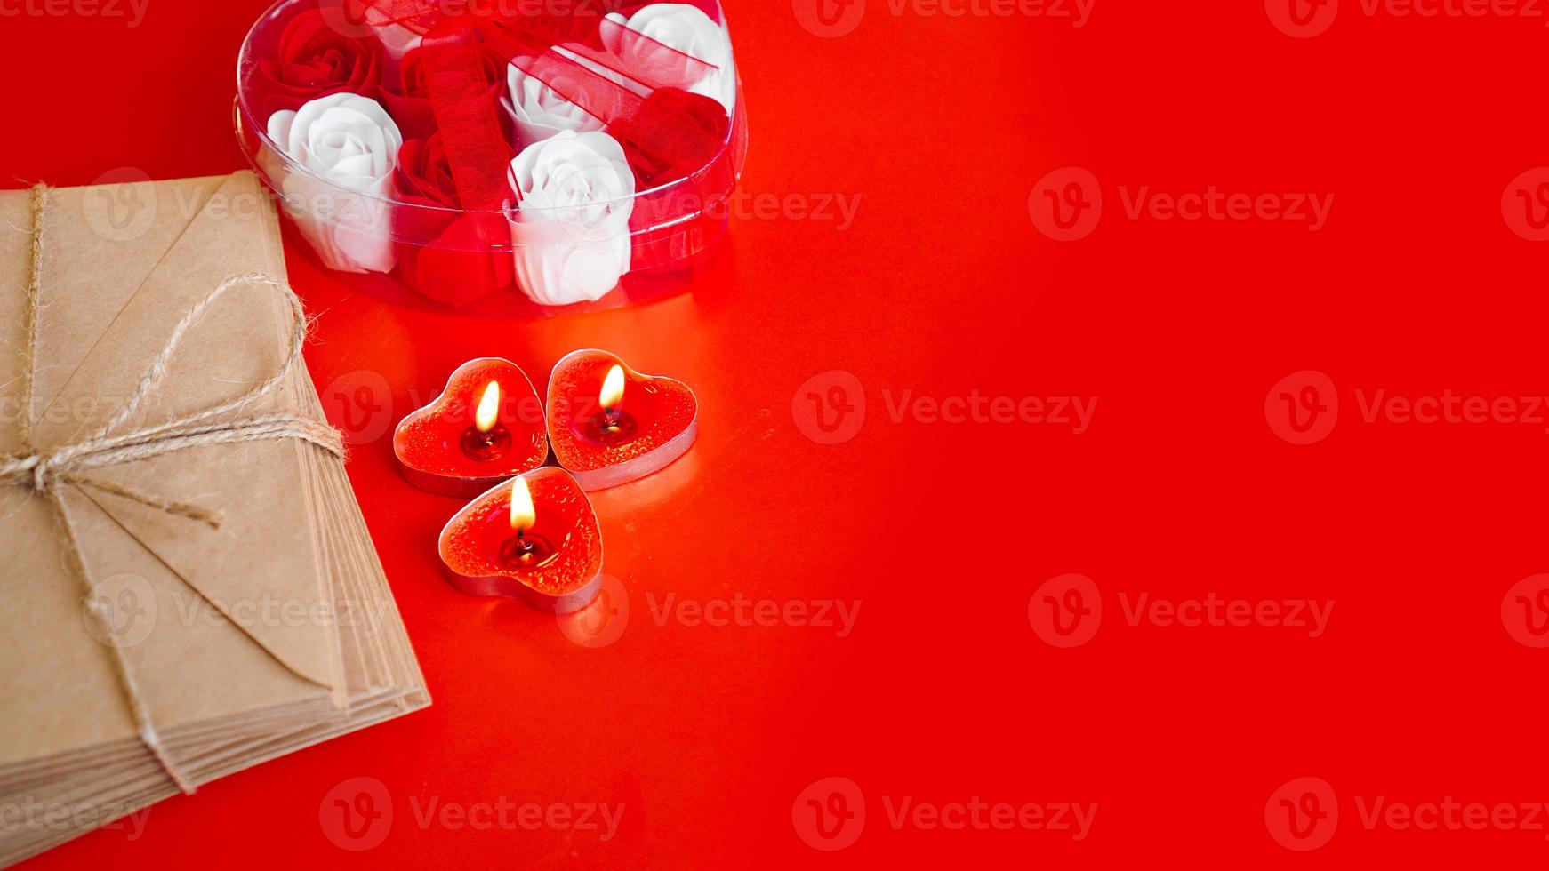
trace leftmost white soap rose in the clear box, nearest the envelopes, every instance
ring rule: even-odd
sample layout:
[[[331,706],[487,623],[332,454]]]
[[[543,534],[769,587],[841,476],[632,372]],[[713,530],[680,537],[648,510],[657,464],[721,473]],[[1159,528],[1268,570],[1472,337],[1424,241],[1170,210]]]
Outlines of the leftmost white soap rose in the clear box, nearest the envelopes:
[[[345,272],[393,268],[392,173],[403,135],[359,94],[328,94],[270,116],[270,139],[291,161],[273,161],[287,212],[324,265]]]

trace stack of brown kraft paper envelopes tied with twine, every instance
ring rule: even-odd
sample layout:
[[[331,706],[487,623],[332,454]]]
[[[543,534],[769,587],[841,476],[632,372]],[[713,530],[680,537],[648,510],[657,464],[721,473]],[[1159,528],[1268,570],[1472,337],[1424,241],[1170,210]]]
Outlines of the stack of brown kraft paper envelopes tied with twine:
[[[37,195],[0,192],[0,459],[11,461],[112,421],[225,278],[285,278],[273,204],[251,173],[42,196],[34,255]],[[291,328],[282,291],[226,292],[129,427],[260,385]],[[256,412],[324,419],[302,365],[240,415]],[[339,456],[296,438],[195,444],[90,476],[0,481],[0,808],[11,811],[0,866],[429,704]],[[198,506],[218,526],[122,494]]]

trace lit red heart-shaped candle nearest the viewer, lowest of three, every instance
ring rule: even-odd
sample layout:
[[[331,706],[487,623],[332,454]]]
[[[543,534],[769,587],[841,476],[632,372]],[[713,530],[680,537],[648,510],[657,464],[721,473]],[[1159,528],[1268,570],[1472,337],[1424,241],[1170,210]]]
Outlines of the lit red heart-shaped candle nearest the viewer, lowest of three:
[[[471,596],[510,596],[541,611],[586,608],[603,588],[603,532],[564,469],[496,484],[441,529],[441,563]]]

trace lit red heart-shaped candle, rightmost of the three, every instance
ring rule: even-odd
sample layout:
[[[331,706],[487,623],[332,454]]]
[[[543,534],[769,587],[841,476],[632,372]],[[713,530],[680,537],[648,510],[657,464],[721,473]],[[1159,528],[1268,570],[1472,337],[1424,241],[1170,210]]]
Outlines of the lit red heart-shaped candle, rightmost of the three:
[[[565,354],[548,377],[548,441],[584,490],[643,478],[699,435],[699,405],[682,381],[640,374],[607,351]]]

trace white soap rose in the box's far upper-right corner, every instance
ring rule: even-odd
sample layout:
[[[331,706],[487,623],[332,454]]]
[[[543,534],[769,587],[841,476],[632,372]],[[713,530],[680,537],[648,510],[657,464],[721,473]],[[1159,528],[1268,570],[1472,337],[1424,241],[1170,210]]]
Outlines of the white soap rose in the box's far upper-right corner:
[[[726,29],[709,20],[703,11],[688,3],[651,3],[641,6],[627,19],[618,12],[609,12],[610,20],[626,28],[641,32],[668,48],[674,48],[713,63],[716,68],[694,82],[688,91],[703,94],[726,107],[726,114],[737,104],[737,67],[731,60],[731,37]],[[604,31],[606,32],[606,31]],[[654,57],[663,50],[647,42],[634,46],[620,45],[623,40],[617,31],[606,34],[609,51],[618,54],[624,63],[638,63],[651,68],[655,63],[671,62]]]

